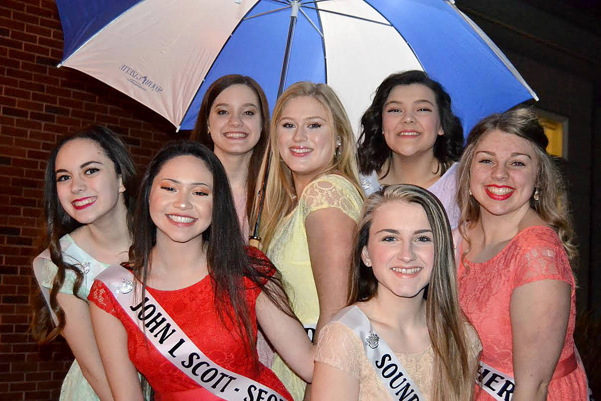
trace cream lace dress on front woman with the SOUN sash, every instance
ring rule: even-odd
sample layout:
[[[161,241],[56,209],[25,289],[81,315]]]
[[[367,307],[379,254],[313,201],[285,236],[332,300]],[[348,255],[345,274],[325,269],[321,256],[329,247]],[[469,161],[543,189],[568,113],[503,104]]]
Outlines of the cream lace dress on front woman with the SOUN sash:
[[[478,358],[482,349],[478,335],[472,326],[468,326],[469,357]],[[420,352],[403,354],[394,352],[398,360],[407,370],[413,382],[424,396],[430,400],[432,394],[432,367],[434,351],[428,347]],[[333,366],[359,380],[359,401],[391,400],[392,397],[377,378],[376,371],[365,356],[363,344],[359,337],[341,322],[329,322],[319,333],[317,343],[317,362]]]

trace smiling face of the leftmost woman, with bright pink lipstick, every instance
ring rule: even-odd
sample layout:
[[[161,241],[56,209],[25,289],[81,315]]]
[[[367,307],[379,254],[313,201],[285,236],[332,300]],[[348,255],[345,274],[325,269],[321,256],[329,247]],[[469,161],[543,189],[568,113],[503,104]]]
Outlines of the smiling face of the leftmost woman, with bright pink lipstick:
[[[73,139],[56,154],[56,194],[69,216],[82,224],[111,218],[125,191],[115,165],[90,139]]]

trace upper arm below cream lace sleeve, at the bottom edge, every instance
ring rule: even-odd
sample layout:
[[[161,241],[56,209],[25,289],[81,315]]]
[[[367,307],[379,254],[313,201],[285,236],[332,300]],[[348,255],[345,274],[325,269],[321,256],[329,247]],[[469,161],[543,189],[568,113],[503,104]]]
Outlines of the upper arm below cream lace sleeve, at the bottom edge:
[[[359,400],[359,380],[340,369],[315,361],[311,400]]]

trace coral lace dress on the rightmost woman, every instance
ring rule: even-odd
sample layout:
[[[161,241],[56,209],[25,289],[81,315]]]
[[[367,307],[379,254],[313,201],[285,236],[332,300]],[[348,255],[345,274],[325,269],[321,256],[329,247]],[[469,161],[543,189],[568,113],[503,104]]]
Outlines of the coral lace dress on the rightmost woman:
[[[548,400],[587,400],[587,377],[575,357],[575,285],[566,251],[554,230],[535,226],[517,233],[505,248],[483,263],[459,266],[459,301],[482,341],[481,360],[513,377],[509,307],[516,287],[538,280],[560,280],[572,287],[570,317],[560,360],[549,384]],[[493,400],[478,387],[476,400]]]

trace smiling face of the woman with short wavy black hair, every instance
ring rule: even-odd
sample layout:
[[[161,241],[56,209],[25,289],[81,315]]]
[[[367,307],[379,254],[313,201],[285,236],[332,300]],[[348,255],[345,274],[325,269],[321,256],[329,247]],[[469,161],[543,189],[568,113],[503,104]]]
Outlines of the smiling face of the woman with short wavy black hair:
[[[443,134],[434,91],[422,84],[392,88],[382,108],[382,133],[398,156],[433,153],[437,136]]]

